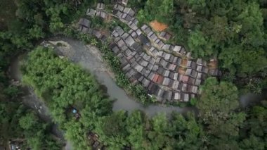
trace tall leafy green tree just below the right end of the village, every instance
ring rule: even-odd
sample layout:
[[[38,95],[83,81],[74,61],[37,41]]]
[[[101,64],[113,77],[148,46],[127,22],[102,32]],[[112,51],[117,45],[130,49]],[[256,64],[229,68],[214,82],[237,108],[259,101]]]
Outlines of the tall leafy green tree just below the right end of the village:
[[[245,113],[235,113],[238,108],[237,87],[230,82],[218,82],[208,78],[202,86],[202,95],[197,103],[200,120],[207,132],[214,137],[211,145],[237,147],[234,140],[238,137]]]

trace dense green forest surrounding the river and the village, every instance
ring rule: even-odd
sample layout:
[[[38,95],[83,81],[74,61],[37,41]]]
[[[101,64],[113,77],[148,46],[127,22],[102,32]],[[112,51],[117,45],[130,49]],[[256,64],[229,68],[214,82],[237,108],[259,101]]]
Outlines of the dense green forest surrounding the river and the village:
[[[267,1],[264,0],[136,0],[141,23],[166,23],[169,42],[185,46],[193,56],[218,58],[222,76],[208,77],[193,106],[197,113],[149,117],[142,111],[112,111],[113,100],[95,77],[53,48],[39,46],[48,37],[69,36],[96,45],[118,85],[146,101],[142,87],[130,87],[108,46],[72,30],[96,0],[0,0],[0,148],[10,139],[25,139],[22,149],[63,149],[51,123],[22,104],[22,87],[11,84],[11,60],[27,54],[22,82],[34,89],[53,122],[73,149],[91,149],[96,133],[108,149],[267,149],[267,101],[242,108],[240,95],[264,94],[267,87]],[[104,0],[105,4],[112,1]],[[98,21],[98,20],[96,20]],[[45,66],[45,67],[44,67]],[[79,118],[71,109],[77,108]]]

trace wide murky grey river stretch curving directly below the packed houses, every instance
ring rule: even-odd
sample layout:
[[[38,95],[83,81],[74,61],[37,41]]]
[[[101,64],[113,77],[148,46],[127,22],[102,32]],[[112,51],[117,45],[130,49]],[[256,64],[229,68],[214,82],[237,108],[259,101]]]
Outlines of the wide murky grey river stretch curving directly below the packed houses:
[[[64,37],[52,38],[49,39],[48,42],[49,41],[53,41],[51,44],[54,44],[54,46],[57,47],[56,52],[59,56],[65,56],[69,58],[70,61],[79,64],[84,70],[93,74],[100,85],[105,85],[107,94],[111,99],[116,100],[113,104],[113,111],[124,110],[131,112],[139,109],[149,116],[156,115],[157,113],[170,114],[173,111],[176,111],[177,113],[196,111],[195,108],[180,108],[178,106],[155,104],[150,104],[145,107],[138,101],[135,101],[131,96],[127,95],[124,89],[117,86],[113,73],[108,69],[108,65],[104,63],[100,51],[96,46],[84,45],[84,43],[79,42],[76,39]],[[58,43],[57,41],[61,42],[61,44],[56,44]],[[67,43],[67,45],[64,46],[64,43]]]

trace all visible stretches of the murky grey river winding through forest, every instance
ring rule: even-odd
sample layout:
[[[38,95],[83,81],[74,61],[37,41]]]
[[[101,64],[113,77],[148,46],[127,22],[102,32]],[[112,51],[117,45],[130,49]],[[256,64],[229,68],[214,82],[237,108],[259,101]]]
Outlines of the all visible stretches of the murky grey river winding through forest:
[[[60,41],[61,46],[56,46],[56,43]],[[157,113],[167,113],[175,111],[177,113],[186,113],[188,111],[196,112],[195,108],[180,108],[178,106],[164,106],[164,105],[150,105],[144,107],[142,104],[135,101],[131,96],[127,95],[126,92],[117,86],[116,82],[112,78],[112,73],[108,69],[108,66],[103,62],[98,49],[94,46],[86,46],[82,42],[75,39],[69,39],[64,37],[57,37],[50,39],[51,43],[56,46],[56,53],[59,56],[64,56],[70,59],[70,61],[77,63],[86,71],[95,75],[96,79],[100,85],[105,86],[107,89],[107,94],[111,99],[115,99],[113,104],[113,111],[125,110],[133,111],[136,109],[144,111],[148,116],[155,115]],[[63,46],[62,46],[63,45]],[[14,80],[21,80],[22,73],[20,73],[20,57],[14,58],[11,63],[10,75]],[[38,99],[36,94],[34,94],[33,89],[30,87],[22,87],[25,92],[23,96],[23,103],[30,108],[34,108],[39,111],[39,115],[46,121],[51,122],[49,116],[48,108],[45,104]],[[245,107],[250,101],[256,101],[256,99],[263,99],[263,96],[255,96],[254,94],[247,94],[241,96],[240,104]],[[63,138],[63,133],[57,130],[57,125],[54,125],[54,134],[60,138]],[[70,142],[67,142],[65,149],[69,150],[71,148]]]

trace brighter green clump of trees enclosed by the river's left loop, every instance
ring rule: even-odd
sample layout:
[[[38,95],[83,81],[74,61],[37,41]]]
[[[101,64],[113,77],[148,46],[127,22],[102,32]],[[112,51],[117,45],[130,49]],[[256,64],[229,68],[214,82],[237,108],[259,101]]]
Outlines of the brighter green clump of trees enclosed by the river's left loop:
[[[47,67],[41,67],[44,65]],[[77,65],[58,58],[52,49],[41,46],[29,54],[23,70],[23,81],[46,101],[53,119],[66,130],[66,137],[74,142],[73,146],[86,149],[86,133],[96,127],[100,116],[111,112],[111,101],[104,96],[98,82]],[[68,109],[77,108],[75,104],[80,106],[79,123],[67,117]]]

